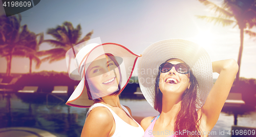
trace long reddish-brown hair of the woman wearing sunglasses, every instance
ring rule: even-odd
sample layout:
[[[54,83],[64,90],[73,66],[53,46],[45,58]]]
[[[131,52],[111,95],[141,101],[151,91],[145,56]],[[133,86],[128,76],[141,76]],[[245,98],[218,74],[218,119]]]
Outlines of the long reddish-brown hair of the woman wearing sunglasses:
[[[169,59],[168,59],[169,60]],[[167,61],[168,61],[167,60]],[[155,85],[155,105],[154,108],[158,110],[160,113],[162,112],[162,97],[163,94],[159,89],[159,77],[160,72],[158,72],[157,78],[156,78],[156,85]],[[181,108],[180,111],[177,113],[175,118],[175,125],[174,125],[174,132],[175,131],[200,131],[199,129],[199,120],[198,119],[198,113],[196,111],[196,100],[197,100],[197,80],[195,76],[193,75],[193,72],[189,70],[189,80],[190,80],[190,86],[188,89],[185,90],[185,92],[182,94],[181,97]],[[201,136],[198,134],[183,134],[182,136]]]

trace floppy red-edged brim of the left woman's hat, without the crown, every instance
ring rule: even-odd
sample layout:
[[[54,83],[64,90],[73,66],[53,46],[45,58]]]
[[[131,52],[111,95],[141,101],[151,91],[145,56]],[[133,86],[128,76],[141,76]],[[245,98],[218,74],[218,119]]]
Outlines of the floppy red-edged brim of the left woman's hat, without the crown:
[[[136,55],[129,49],[125,48],[123,45],[117,43],[103,43],[96,46],[89,52],[88,57],[84,62],[86,65],[84,65],[83,74],[86,72],[90,62],[92,62],[98,56],[102,55],[102,52],[98,52],[98,49],[101,48],[103,49],[103,54],[110,53],[113,56],[121,57],[123,59],[122,63],[119,64],[122,75],[122,83],[120,86],[122,92],[132,76],[138,57],[141,55]],[[82,79],[66,104],[75,107],[90,107],[93,103],[94,101],[89,100],[88,98],[87,89],[86,86],[84,86],[84,79]]]

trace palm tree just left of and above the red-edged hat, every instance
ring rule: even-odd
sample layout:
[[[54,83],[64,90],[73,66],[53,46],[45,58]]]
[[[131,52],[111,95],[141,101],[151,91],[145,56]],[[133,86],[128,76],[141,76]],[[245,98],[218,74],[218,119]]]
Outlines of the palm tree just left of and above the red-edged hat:
[[[41,61],[49,60],[49,63],[52,63],[53,61],[65,59],[67,51],[71,48],[73,49],[73,52],[75,54],[75,49],[73,47],[81,42],[89,40],[93,34],[93,31],[89,32],[86,36],[79,40],[79,38],[81,37],[81,26],[77,25],[76,28],[74,28],[71,22],[66,21],[63,22],[62,26],[48,29],[47,34],[52,35],[56,40],[48,39],[44,40],[44,42],[53,44],[55,48],[47,51],[40,51],[38,52],[38,54],[40,56],[48,55]],[[70,61],[68,72],[70,70]]]

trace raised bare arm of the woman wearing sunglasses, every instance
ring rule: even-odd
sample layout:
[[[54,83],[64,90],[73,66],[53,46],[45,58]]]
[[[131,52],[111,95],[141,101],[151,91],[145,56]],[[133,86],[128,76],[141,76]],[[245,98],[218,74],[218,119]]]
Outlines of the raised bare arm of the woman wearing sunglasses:
[[[206,125],[210,128],[209,131],[219,119],[221,109],[238,72],[238,64],[234,59],[214,61],[212,62],[212,71],[220,75],[211,88],[202,109],[202,119],[206,120]]]

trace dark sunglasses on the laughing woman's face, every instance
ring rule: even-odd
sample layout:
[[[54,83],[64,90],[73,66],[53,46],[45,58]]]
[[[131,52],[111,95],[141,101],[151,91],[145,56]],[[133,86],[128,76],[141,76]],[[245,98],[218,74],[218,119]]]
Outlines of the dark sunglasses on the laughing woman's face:
[[[189,73],[189,66],[187,64],[184,64],[184,63],[172,64],[172,63],[169,63],[169,62],[164,62],[159,66],[159,71],[161,73],[166,73],[166,72],[172,70],[173,66],[175,67],[175,70],[178,73],[181,73],[181,74],[188,74]]]

